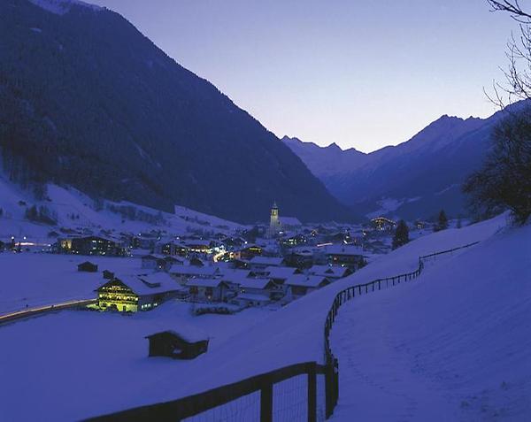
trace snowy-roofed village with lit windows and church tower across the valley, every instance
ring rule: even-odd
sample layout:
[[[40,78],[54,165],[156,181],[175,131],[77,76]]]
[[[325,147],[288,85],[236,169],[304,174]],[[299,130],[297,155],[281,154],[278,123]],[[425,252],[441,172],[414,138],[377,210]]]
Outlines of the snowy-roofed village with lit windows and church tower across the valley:
[[[196,314],[234,313],[278,309],[349,276],[389,252],[395,228],[383,217],[365,226],[303,225],[273,203],[269,224],[179,234],[63,228],[50,233],[49,245],[12,236],[0,241],[0,250],[79,256],[77,271],[98,285],[91,310],[150,311],[176,300],[192,303]],[[412,226],[412,236],[424,231],[431,231],[428,223]],[[126,260],[127,270],[98,266],[95,257]]]

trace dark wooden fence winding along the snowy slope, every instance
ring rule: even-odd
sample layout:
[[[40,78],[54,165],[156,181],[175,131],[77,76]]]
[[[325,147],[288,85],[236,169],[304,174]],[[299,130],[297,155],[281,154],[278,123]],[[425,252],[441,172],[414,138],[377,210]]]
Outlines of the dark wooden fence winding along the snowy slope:
[[[222,387],[213,388],[204,393],[189,395],[178,400],[165,403],[155,403],[134,409],[123,410],[96,418],[91,421],[180,421],[184,418],[200,415],[207,410],[212,410],[227,403],[235,402],[246,395],[259,392],[259,415],[260,421],[270,422],[273,420],[273,386],[284,380],[290,380],[296,376],[307,376],[306,407],[309,422],[317,420],[317,375],[325,376],[325,416],[329,418],[334,412],[339,398],[339,364],[330,348],[330,331],[334,325],[339,308],[343,303],[349,302],[357,295],[366,295],[369,292],[390,288],[405,281],[419,277],[424,269],[424,261],[430,257],[436,257],[451,253],[458,249],[468,248],[478,242],[469,243],[458,248],[447,249],[433,254],[419,257],[419,267],[413,272],[404,272],[392,277],[369,281],[365,284],[357,284],[340,291],[335,295],[334,302],[327,313],[325,321],[325,364],[306,362],[292,364],[283,368],[266,372],[245,380],[241,380]]]

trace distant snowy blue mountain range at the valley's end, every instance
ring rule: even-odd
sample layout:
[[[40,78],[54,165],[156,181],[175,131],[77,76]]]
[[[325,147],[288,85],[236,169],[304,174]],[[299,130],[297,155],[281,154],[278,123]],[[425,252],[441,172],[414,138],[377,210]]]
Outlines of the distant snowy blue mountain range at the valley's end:
[[[466,214],[461,184],[481,165],[492,127],[503,115],[504,111],[489,119],[444,115],[409,141],[370,154],[335,145],[320,148],[286,137],[283,141],[335,197],[367,217],[428,219],[441,209],[457,216]]]

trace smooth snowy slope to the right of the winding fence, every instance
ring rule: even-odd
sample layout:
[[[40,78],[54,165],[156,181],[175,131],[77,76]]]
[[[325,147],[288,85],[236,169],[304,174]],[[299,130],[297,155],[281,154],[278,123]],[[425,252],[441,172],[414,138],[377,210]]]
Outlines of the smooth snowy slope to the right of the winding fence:
[[[531,226],[510,228],[343,307],[334,420],[526,420],[530,250]]]

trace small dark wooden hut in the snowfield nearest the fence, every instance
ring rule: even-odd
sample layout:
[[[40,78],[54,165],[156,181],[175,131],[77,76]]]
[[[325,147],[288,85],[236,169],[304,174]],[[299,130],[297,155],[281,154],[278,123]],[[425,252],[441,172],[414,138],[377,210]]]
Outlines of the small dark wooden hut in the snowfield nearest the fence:
[[[208,349],[208,339],[197,335],[176,333],[173,330],[146,336],[150,341],[150,357],[193,359]]]

